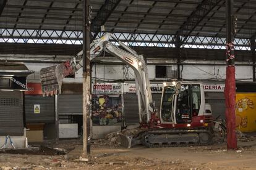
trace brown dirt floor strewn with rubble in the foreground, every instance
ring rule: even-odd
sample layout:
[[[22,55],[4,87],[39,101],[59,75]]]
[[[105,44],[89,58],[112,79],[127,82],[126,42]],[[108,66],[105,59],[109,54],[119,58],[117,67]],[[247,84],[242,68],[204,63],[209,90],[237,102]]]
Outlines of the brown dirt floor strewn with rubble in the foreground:
[[[80,140],[65,140],[61,148],[75,147],[67,155],[0,154],[0,169],[256,169],[256,140],[239,142],[239,150],[226,144],[208,147],[121,148],[92,145],[90,161],[81,160]]]

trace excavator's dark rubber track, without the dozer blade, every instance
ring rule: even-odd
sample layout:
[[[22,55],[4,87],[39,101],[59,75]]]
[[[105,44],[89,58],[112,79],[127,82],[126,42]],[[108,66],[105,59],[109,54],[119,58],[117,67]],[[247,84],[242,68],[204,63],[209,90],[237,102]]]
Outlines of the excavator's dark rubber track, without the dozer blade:
[[[155,129],[142,134],[145,147],[188,147],[211,145],[213,134],[207,129]]]

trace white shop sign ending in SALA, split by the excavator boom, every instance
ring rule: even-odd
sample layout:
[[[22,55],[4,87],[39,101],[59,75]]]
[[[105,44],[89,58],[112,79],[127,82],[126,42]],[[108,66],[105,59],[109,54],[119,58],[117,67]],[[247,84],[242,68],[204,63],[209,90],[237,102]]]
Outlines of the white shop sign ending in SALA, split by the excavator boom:
[[[150,84],[150,89],[152,93],[161,93],[163,84]],[[124,83],[124,92],[136,92],[135,83]]]

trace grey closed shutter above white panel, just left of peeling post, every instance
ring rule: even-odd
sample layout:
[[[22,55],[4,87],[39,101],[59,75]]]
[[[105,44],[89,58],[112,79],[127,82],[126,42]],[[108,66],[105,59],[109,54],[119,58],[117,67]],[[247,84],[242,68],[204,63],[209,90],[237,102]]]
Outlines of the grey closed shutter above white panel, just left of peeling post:
[[[83,115],[82,94],[59,95],[59,115]]]

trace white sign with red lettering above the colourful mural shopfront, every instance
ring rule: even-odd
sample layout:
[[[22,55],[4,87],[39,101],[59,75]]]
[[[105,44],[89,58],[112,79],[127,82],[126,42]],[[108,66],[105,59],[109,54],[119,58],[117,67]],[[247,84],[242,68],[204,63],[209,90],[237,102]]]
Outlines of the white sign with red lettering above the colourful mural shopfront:
[[[118,83],[93,84],[93,94],[122,94],[122,84],[118,84]]]

